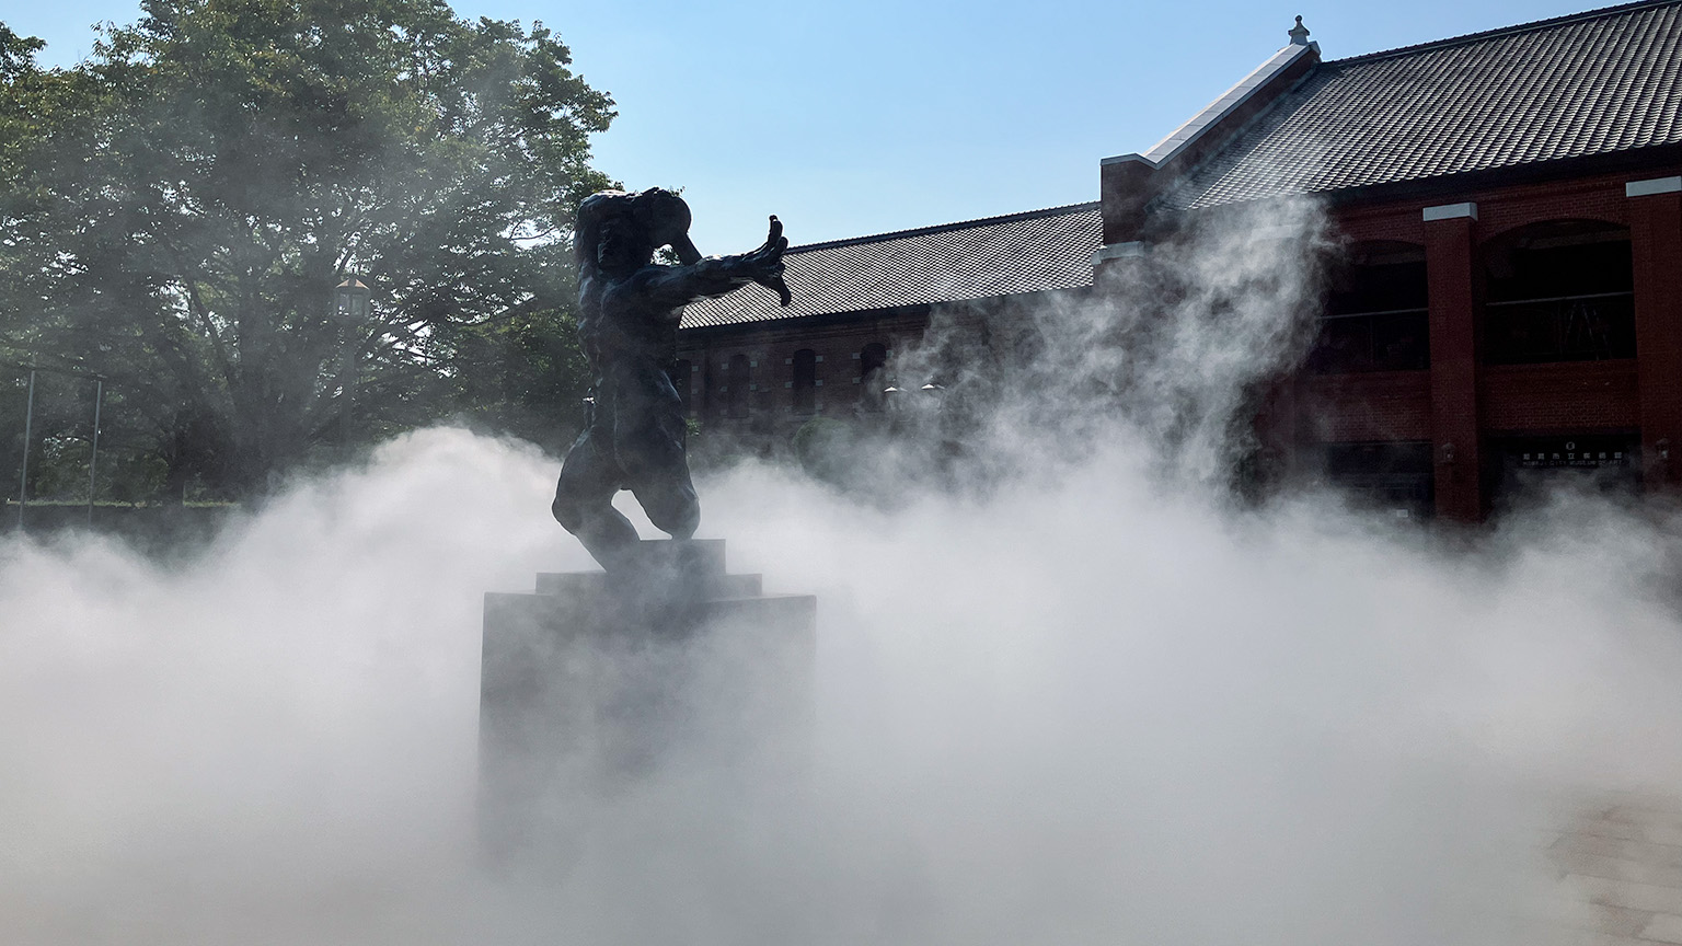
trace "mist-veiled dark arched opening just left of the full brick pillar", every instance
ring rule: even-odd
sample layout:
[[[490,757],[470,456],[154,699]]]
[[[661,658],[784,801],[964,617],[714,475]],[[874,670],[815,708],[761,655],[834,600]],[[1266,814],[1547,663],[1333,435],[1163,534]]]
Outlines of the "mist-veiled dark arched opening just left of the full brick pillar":
[[[1420,370],[1430,367],[1430,357],[1425,247],[1356,244],[1332,268],[1309,370]]]

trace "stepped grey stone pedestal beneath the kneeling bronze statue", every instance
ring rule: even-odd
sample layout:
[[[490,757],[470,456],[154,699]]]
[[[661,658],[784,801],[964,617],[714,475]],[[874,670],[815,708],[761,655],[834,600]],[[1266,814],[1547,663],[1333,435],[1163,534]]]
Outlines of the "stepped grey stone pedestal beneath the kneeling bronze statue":
[[[484,596],[479,828],[491,857],[563,848],[594,806],[696,771],[802,766],[817,599],[728,574],[722,540],[643,542],[626,574]]]

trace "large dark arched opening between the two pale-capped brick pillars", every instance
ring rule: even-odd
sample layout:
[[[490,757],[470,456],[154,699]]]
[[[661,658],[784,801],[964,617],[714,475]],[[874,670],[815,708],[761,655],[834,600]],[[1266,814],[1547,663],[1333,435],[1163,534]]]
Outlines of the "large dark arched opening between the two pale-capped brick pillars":
[[[1484,247],[1484,360],[1495,365],[1635,357],[1630,231],[1547,221]]]

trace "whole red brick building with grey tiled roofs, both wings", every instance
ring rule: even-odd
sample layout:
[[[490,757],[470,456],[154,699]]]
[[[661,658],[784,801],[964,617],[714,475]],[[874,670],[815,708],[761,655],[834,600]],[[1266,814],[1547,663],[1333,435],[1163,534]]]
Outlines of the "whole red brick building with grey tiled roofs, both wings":
[[[796,310],[691,306],[696,409],[870,411],[942,305],[1090,291],[1187,219],[1314,195],[1346,252],[1262,421],[1277,468],[1462,520],[1568,471],[1682,481],[1682,0],[1341,61],[1307,35],[1105,158],[1098,204],[796,247]]]

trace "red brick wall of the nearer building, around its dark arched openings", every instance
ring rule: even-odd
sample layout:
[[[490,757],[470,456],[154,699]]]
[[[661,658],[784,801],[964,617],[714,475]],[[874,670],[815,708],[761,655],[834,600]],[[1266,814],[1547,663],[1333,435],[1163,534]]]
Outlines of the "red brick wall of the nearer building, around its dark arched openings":
[[[1648,485],[1682,481],[1682,195],[1628,197],[1625,183],[1682,173],[1662,165],[1633,173],[1440,192],[1332,207],[1349,242],[1401,241],[1426,247],[1431,370],[1304,377],[1297,382],[1299,443],[1431,439],[1438,513],[1478,518],[1490,433],[1593,433],[1642,428]],[[1425,222],[1426,207],[1475,204],[1475,217]],[[1484,365],[1482,252],[1489,241],[1544,221],[1589,219],[1630,227],[1635,266],[1635,360]],[[1428,380],[1420,380],[1420,379]],[[1411,389],[1408,385],[1413,385]],[[1425,391],[1420,391],[1420,385]],[[1452,448],[1452,449],[1450,449]],[[1452,451],[1453,460],[1448,460]]]

